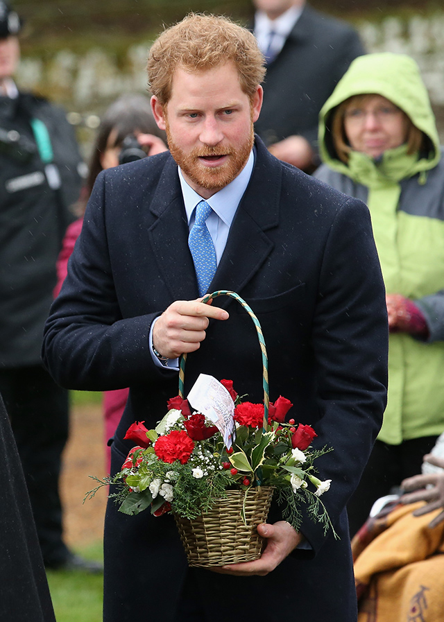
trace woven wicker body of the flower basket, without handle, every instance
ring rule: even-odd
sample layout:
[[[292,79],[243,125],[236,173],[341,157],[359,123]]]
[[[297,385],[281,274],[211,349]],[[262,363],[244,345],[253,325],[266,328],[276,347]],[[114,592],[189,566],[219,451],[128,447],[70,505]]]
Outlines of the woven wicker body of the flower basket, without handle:
[[[196,519],[175,515],[189,566],[222,566],[257,560],[264,544],[257,526],[266,521],[272,496],[272,486],[250,488],[246,492],[228,490],[225,499],[218,499],[210,512]],[[243,506],[247,525],[241,516]]]

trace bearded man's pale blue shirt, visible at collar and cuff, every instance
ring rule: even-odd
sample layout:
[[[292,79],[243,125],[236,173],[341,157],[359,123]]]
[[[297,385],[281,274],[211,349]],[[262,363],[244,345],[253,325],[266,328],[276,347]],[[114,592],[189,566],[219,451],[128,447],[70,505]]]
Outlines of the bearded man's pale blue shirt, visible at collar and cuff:
[[[182,174],[182,171],[178,169],[180,187],[182,189],[182,196],[185,203],[185,211],[187,213],[187,221],[188,221],[188,229],[191,230],[191,227],[194,225],[194,218],[196,216],[196,205],[205,200],[208,205],[212,208],[212,214],[208,216],[206,225],[210,236],[212,237],[212,241],[214,244],[214,250],[216,250],[216,263],[219,266],[219,261],[221,261],[221,257],[223,251],[225,250],[225,245],[227,243],[228,234],[230,233],[231,223],[234,218],[234,214],[236,214],[237,207],[239,207],[239,203],[241,202],[241,198],[244,196],[244,192],[248,186],[248,182],[250,182],[251,173],[253,173],[253,166],[255,165],[255,155],[252,150],[250,156],[248,157],[247,163],[244,166],[244,169],[241,170],[237,178],[234,178],[232,182],[225,186],[218,192],[216,192],[209,199],[204,199],[201,197],[194,189],[187,184],[185,178]],[[157,318],[154,320],[151,325],[151,331],[149,335],[149,344],[151,349],[151,357],[153,361],[159,367],[164,367],[162,363],[159,361],[157,356],[155,356],[152,344],[153,344],[153,327]],[[179,363],[178,358],[170,359],[168,361],[167,367],[171,370],[178,370]]]

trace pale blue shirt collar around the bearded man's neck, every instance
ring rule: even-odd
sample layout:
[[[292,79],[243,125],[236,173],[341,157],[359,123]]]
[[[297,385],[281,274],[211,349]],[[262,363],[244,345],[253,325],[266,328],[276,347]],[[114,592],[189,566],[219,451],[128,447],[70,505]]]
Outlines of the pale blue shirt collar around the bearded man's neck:
[[[211,206],[212,210],[216,212],[219,218],[221,218],[221,221],[228,225],[228,227],[230,227],[237,207],[241,202],[241,198],[244,196],[244,192],[246,191],[248,182],[250,181],[251,173],[253,173],[254,164],[255,156],[252,150],[244,169],[242,169],[239,175],[237,175],[237,178],[234,178],[228,186],[225,186],[225,188],[222,188],[216,192],[209,199],[205,199],[208,205]],[[178,169],[178,172],[180,187],[182,188],[182,196],[185,203],[185,211],[187,212],[187,221],[189,224],[194,208],[198,202],[204,199],[187,184],[180,168]]]

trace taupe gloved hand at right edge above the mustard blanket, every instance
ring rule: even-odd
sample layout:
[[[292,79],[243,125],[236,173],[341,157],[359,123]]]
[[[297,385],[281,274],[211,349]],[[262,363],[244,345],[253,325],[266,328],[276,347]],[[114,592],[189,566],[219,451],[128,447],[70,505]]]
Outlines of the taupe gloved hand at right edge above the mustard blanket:
[[[424,460],[431,465],[444,469],[444,458],[437,458],[428,453],[427,456],[424,456]],[[427,485],[430,485],[430,487],[427,488]],[[444,471],[442,473],[409,477],[401,483],[401,488],[406,493],[409,493],[403,494],[400,497],[401,503],[427,501],[425,506],[413,512],[413,516],[422,516],[439,508],[444,508]],[[436,527],[442,521],[444,521],[444,510],[433,519],[429,527]]]

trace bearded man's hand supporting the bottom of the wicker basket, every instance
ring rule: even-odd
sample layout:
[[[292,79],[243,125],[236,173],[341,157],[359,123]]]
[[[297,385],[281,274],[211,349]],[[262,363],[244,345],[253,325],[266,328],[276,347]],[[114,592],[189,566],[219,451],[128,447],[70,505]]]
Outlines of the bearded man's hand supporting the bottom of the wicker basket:
[[[279,566],[280,562],[282,562],[302,540],[302,535],[286,521],[278,521],[278,523],[274,523],[273,525],[262,523],[257,526],[257,532],[262,537],[268,538],[264,553],[262,553],[259,560],[212,567],[209,570],[235,576],[259,575],[264,577],[274,570],[275,567]]]

